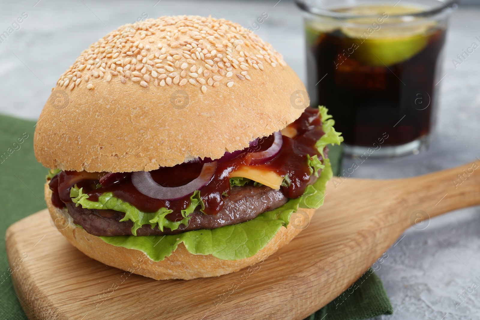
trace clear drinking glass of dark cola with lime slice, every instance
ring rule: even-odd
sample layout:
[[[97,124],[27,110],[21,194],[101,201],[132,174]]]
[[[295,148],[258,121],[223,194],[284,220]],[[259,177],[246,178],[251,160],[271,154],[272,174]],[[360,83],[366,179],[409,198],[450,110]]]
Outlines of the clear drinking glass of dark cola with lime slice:
[[[311,105],[329,109],[344,152],[385,157],[428,148],[456,1],[296,2],[304,11]]]

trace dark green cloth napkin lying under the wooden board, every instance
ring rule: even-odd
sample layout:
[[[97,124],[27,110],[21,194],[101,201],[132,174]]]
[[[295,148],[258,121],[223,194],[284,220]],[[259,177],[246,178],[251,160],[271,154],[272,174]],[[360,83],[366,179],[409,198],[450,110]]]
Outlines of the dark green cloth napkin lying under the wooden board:
[[[12,223],[47,206],[43,184],[47,169],[36,162],[33,153],[35,121],[0,115],[0,319],[26,319],[13,290],[5,251],[5,231]],[[330,152],[334,172],[338,173],[341,149]],[[335,169],[337,168],[337,169]],[[335,171],[336,170],[336,171]],[[341,301],[340,301],[341,302]],[[392,306],[382,281],[372,273],[348,299],[335,300],[315,312],[309,320],[360,320],[392,314]],[[336,308],[338,307],[338,308]]]

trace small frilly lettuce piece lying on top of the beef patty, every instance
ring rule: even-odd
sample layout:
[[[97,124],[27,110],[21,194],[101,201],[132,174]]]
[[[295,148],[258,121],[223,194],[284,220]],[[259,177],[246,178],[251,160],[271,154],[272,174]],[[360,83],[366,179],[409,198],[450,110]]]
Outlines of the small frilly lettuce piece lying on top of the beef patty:
[[[173,210],[160,208],[155,213],[146,213],[138,210],[130,203],[114,197],[112,192],[105,192],[98,197],[98,201],[90,201],[88,200],[88,195],[82,192],[82,188],[79,189],[75,185],[70,191],[70,196],[72,197],[72,201],[76,203],[76,206],[82,205],[84,209],[112,209],[125,213],[125,216],[120,221],[131,220],[133,222],[132,234],[135,236],[137,235],[138,228],[142,225],[150,225],[151,228],[158,225],[158,228],[161,231],[163,231],[165,227],[170,228],[171,230],[176,230],[179,228],[180,224],[188,225],[188,221],[190,220],[188,215],[192,213],[198,205],[201,206],[201,210],[204,209],[204,203],[200,199],[200,191],[198,190],[193,192],[190,197],[190,205],[184,210],[181,210],[183,218],[175,222],[170,221],[165,217],[168,213],[172,213]]]

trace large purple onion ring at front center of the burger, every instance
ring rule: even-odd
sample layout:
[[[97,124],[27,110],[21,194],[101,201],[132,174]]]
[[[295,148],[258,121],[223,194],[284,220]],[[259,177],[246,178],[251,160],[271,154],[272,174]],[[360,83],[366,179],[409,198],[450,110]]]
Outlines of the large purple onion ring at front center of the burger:
[[[132,173],[132,184],[137,190],[154,199],[178,200],[195,190],[203,188],[210,182],[215,174],[217,162],[204,164],[198,178],[193,179],[186,185],[180,187],[163,187],[154,181],[148,171],[137,171]]]

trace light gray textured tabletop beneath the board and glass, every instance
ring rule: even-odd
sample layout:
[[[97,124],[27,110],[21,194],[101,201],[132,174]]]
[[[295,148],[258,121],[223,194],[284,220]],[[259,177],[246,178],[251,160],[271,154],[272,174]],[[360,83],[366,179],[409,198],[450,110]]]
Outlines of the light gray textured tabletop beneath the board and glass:
[[[267,12],[257,32],[284,55],[305,79],[304,40],[300,11],[292,2],[256,1],[92,1],[31,0],[0,4],[0,33],[28,15],[0,43],[0,112],[36,119],[60,73],[93,40],[138,17],[199,14],[227,18],[244,26]],[[355,177],[411,177],[457,166],[480,156],[480,48],[454,68],[452,59],[480,37],[480,10],[461,8],[451,19],[447,36],[440,111],[428,152],[387,160],[368,159]],[[350,167],[352,160],[345,159]],[[409,229],[378,272],[395,315],[378,319],[479,319],[480,289],[456,307],[454,300],[472,282],[480,285],[479,208],[432,219],[424,230]],[[443,318],[442,318],[443,317]]]

